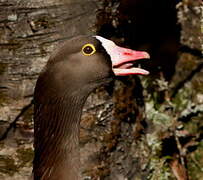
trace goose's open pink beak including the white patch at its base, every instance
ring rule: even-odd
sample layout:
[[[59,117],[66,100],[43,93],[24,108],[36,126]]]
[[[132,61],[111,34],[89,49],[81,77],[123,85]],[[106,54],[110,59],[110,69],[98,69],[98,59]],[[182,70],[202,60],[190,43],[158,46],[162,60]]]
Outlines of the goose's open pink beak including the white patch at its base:
[[[101,36],[95,36],[103,45],[112,61],[112,70],[116,76],[126,76],[129,74],[147,75],[148,71],[133,67],[133,61],[138,59],[149,59],[150,56],[144,51],[135,51],[117,46],[113,41]]]

